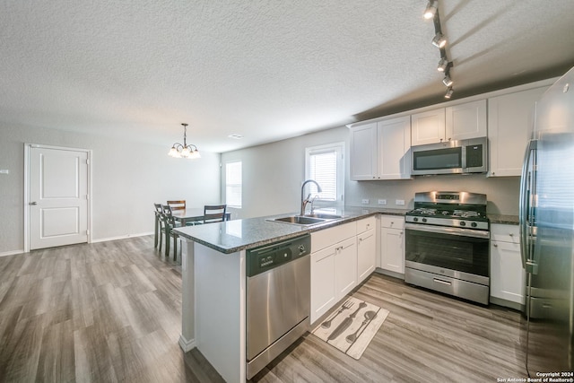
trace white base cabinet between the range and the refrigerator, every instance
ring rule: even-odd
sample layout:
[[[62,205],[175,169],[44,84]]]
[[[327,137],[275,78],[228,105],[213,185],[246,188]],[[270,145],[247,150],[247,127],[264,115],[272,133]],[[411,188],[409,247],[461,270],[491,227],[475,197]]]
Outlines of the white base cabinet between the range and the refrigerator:
[[[491,224],[491,297],[522,305],[525,281],[518,226]]]

